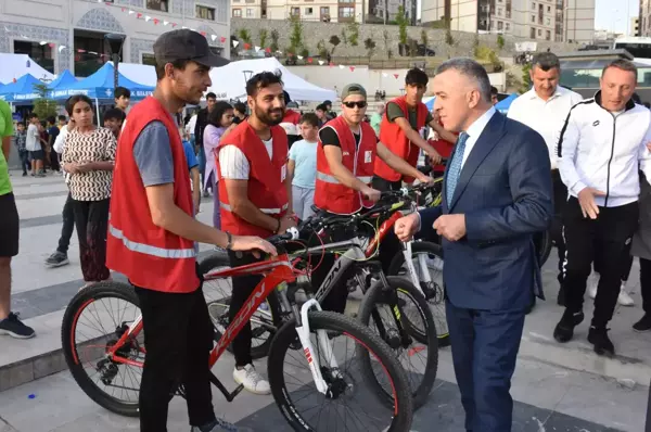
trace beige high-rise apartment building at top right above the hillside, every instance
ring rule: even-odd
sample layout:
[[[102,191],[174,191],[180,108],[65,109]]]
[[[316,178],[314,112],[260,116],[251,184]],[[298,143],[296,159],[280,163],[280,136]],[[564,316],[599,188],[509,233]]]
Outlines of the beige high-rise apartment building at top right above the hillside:
[[[589,42],[595,0],[422,0],[421,23],[446,20],[458,31]]]

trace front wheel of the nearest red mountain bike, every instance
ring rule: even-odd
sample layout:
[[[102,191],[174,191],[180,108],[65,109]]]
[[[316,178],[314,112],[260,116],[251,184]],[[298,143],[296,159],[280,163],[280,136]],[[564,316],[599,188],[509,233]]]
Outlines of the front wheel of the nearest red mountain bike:
[[[276,333],[268,358],[269,385],[276,404],[294,431],[409,431],[413,402],[407,377],[392,351],[352,318],[330,312],[308,314],[314,352],[298,341],[296,322],[286,322]],[[317,331],[328,333],[322,347]],[[349,358],[348,358],[349,357]],[[378,398],[361,360],[370,358],[384,372],[394,404],[387,408]],[[326,394],[316,389],[309,364],[318,361]],[[376,380],[373,377],[373,381]]]

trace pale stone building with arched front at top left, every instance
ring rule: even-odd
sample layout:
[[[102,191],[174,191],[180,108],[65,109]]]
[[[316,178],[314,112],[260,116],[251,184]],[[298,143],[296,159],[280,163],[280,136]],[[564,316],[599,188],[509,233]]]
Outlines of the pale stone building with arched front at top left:
[[[0,52],[86,77],[110,60],[106,34],[125,36],[123,62],[153,64],[156,38],[187,27],[229,58],[229,8],[228,0],[0,0]]]

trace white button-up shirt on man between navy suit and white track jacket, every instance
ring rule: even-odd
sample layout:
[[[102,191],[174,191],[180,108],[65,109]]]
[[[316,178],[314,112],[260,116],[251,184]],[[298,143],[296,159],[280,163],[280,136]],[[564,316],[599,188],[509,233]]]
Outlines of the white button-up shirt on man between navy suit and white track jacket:
[[[559,166],[556,147],[559,134],[572,106],[583,99],[580,94],[557,86],[554,93],[545,101],[532,88],[511,103],[507,116],[542,136],[549,149],[551,169],[557,169]]]

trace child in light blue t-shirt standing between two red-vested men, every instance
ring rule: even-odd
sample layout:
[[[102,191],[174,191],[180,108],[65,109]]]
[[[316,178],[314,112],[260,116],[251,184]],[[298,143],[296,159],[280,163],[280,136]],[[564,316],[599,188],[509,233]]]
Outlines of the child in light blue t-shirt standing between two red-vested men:
[[[315,183],[317,176],[317,147],[319,117],[304,114],[298,124],[303,139],[290,149],[288,175],[292,179],[292,205],[299,219],[314,215]]]

